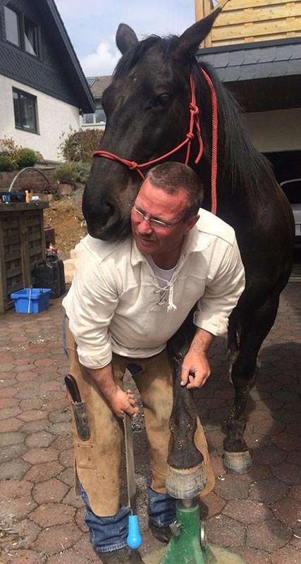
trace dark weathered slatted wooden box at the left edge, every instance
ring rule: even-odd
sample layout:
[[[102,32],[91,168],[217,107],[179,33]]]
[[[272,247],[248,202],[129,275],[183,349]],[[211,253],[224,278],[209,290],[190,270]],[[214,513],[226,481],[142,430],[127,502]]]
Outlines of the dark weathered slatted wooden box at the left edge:
[[[32,283],[35,262],[45,258],[46,202],[0,204],[0,313],[13,305],[11,293]]]

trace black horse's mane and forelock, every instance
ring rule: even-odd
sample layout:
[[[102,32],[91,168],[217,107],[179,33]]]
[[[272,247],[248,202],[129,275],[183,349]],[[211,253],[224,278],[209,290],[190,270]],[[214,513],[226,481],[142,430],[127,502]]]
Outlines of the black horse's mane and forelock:
[[[164,58],[168,58],[174,42],[178,39],[175,35],[159,37],[150,35],[146,39],[130,47],[115,68],[114,75],[122,77],[128,75],[133,67],[142,60],[143,56],[152,47],[159,47]],[[198,62],[188,55],[192,60],[192,71],[197,85],[197,97],[202,100],[202,119],[207,126],[207,135],[211,137],[211,105],[208,97],[208,86],[199,68],[204,68],[211,77],[219,101],[219,139],[222,140],[219,147],[219,189],[232,190],[232,192],[249,192],[260,195],[262,183],[265,182],[271,188],[276,186],[271,164],[254,148],[242,127],[240,106],[235,101],[231,92],[223,86],[214,68],[210,65]],[[204,96],[204,92],[206,96]],[[206,123],[205,123],[206,122]],[[252,179],[252,180],[251,180]]]

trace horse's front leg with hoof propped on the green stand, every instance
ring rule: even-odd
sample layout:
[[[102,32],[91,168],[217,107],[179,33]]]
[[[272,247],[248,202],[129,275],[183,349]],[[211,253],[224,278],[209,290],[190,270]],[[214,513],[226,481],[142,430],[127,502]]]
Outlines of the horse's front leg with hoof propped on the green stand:
[[[169,474],[166,480],[168,494],[178,499],[197,496],[206,486],[202,453],[194,442],[197,430],[197,411],[192,393],[180,385],[182,364],[195,334],[189,317],[176,336],[168,343],[169,362],[173,368],[173,411],[170,429],[173,446],[168,456]]]

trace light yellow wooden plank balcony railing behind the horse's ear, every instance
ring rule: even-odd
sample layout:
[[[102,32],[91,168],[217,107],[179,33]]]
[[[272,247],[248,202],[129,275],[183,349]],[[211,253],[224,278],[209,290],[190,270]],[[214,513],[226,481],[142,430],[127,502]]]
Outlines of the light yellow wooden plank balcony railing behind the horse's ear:
[[[195,0],[196,19],[214,5],[214,0]],[[219,6],[223,11],[203,47],[301,36],[301,0],[220,0]]]

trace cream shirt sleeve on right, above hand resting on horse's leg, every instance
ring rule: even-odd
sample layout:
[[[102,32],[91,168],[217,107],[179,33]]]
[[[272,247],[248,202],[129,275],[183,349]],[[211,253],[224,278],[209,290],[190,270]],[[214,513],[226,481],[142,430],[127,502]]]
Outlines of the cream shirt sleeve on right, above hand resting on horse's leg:
[[[215,336],[224,335],[228,318],[245,288],[245,269],[236,240],[228,246],[214,278],[197,303],[194,323]]]

